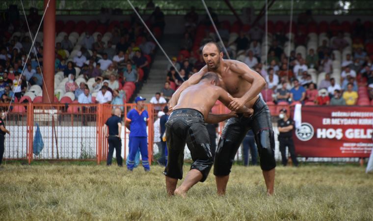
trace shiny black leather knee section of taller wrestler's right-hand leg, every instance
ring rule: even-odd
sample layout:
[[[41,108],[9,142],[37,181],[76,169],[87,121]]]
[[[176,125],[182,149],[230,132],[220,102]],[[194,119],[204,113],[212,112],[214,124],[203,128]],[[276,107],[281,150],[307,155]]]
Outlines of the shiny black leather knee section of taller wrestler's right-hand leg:
[[[264,129],[256,134],[258,151],[260,154],[260,166],[262,170],[271,170],[276,167],[274,159],[274,133],[272,129]]]

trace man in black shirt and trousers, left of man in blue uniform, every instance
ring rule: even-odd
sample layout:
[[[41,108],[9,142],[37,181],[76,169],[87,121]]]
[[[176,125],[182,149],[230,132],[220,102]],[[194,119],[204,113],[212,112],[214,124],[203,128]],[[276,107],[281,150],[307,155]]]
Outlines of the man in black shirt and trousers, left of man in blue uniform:
[[[112,116],[107,119],[105,123],[105,137],[109,143],[109,153],[107,154],[107,166],[111,165],[111,160],[113,158],[114,148],[118,166],[123,166],[122,153],[122,142],[120,139],[120,134],[122,130],[122,119],[120,118],[121,110],[119,108],[113,110]],[[107,133],[107,128],[109,129]]]

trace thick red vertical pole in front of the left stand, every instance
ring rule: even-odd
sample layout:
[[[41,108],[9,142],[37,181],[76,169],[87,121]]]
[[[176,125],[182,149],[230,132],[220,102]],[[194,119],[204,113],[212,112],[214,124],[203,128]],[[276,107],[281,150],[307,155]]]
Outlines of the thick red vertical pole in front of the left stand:
[[[48,0],[44,0],[44,9]],[[54,41],[55,41],[55,0],[49,1],[44,17],[44,53],[43,53],[43,103],[53,103],[54,98]],[[48,95],[51,101],[48,99]]]

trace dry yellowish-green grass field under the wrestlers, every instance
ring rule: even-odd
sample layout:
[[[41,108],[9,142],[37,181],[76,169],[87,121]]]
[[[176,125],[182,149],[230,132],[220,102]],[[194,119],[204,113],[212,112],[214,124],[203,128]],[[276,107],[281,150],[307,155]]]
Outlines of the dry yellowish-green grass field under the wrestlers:
[[[278,166],[271,197],[260,167],[234,166],[226,196],[210,173],[186,199],[166,196],[162,170],[7,164],[0,220],[373,220],[373,174],[359,166]]]

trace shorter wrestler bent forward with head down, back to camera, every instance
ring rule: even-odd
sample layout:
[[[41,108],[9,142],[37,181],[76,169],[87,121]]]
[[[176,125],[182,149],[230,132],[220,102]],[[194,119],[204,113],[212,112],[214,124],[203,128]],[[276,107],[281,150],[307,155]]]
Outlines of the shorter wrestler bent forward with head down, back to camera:
[[[213,166],[210,151],[210,138],[205,126],[205,119],[216,100],[229,105],[232,97],[221,87],[216,86],[219,77],[216,73],[204,74],[201,81],[186,88],[178,99],[174,111],[166,123],[166,140],[168,162],[164,170],[168,195],[185,196],[197,182],[204,182]],[[201,96],[203,95],[203,96]],[[242,106],[237,111],[247,116],[252,109]],[[224,114],[221,120],[235,116],[235,112]],[[237,116],[237,115],[236,115]],[[183,178],[184,148],[187,143],[193,164],[181,186],[176,189],[178,179]],[[176,189],[176,190],[175,190]]]

